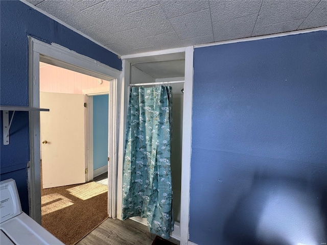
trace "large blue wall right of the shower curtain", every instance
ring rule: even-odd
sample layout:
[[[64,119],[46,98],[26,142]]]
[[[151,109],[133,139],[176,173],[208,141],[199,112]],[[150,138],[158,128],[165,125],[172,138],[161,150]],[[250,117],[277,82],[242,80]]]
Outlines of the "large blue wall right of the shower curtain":
[[[196,48],[190,240],[320,244],[327,32]]]

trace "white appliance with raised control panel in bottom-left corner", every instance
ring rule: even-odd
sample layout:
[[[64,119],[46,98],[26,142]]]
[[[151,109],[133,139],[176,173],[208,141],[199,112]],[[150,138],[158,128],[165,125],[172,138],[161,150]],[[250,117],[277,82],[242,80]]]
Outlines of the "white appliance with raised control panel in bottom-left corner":
[[[21,211],[16,182],[0,182],[0,244],[1,245],[62,245],[58,238]]]

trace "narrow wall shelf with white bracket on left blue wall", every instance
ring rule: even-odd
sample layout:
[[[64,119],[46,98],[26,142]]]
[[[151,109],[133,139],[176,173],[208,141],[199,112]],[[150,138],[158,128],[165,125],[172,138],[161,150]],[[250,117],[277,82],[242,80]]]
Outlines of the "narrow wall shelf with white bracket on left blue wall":
[[[9,144],[9,130],[12,119],[14,118],[15,111],[50,111],[50,109],[29,107],[29,106],[0,106],[0,110],[3,111],[3,133],[4,133],[4,145]],[[13,111],[9,122],[9,111]]]

